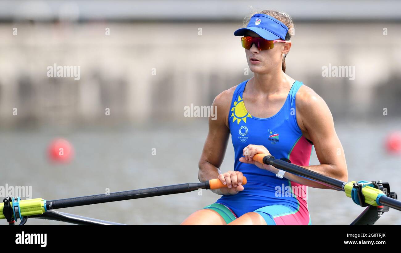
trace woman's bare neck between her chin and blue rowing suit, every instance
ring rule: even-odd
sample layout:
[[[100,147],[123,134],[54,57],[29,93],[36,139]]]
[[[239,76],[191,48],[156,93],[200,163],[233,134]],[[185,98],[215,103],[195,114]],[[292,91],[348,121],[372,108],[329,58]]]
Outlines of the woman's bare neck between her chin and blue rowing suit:
[[[281,70],[281,66],[280,66]],[[274,71],[271,73],[254,73],[252,78],[252,89],[257,93],[279,93],[288,92],[290,84],[288,82],[288,76],[283,71]]]

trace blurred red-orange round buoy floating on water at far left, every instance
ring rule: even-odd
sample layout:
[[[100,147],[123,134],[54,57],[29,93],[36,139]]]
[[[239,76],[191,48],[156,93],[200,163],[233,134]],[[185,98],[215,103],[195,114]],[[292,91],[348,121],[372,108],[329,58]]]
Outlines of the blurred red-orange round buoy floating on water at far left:
[[[68,163],[73,159],[74,149],[69,141],[58,138],[50,143],[48,155],[51,161]]]

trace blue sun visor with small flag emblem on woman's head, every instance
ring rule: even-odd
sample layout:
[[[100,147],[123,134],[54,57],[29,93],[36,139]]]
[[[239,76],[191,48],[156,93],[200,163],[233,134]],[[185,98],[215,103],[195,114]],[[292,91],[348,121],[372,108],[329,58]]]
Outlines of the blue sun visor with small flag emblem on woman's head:
[[[240,28],[234,32],[235,36],[244,36],[247,31],[253,31],[266,40],[286,39],[288,27],[266,14],[255,14],[252,16],[246,28]]]

